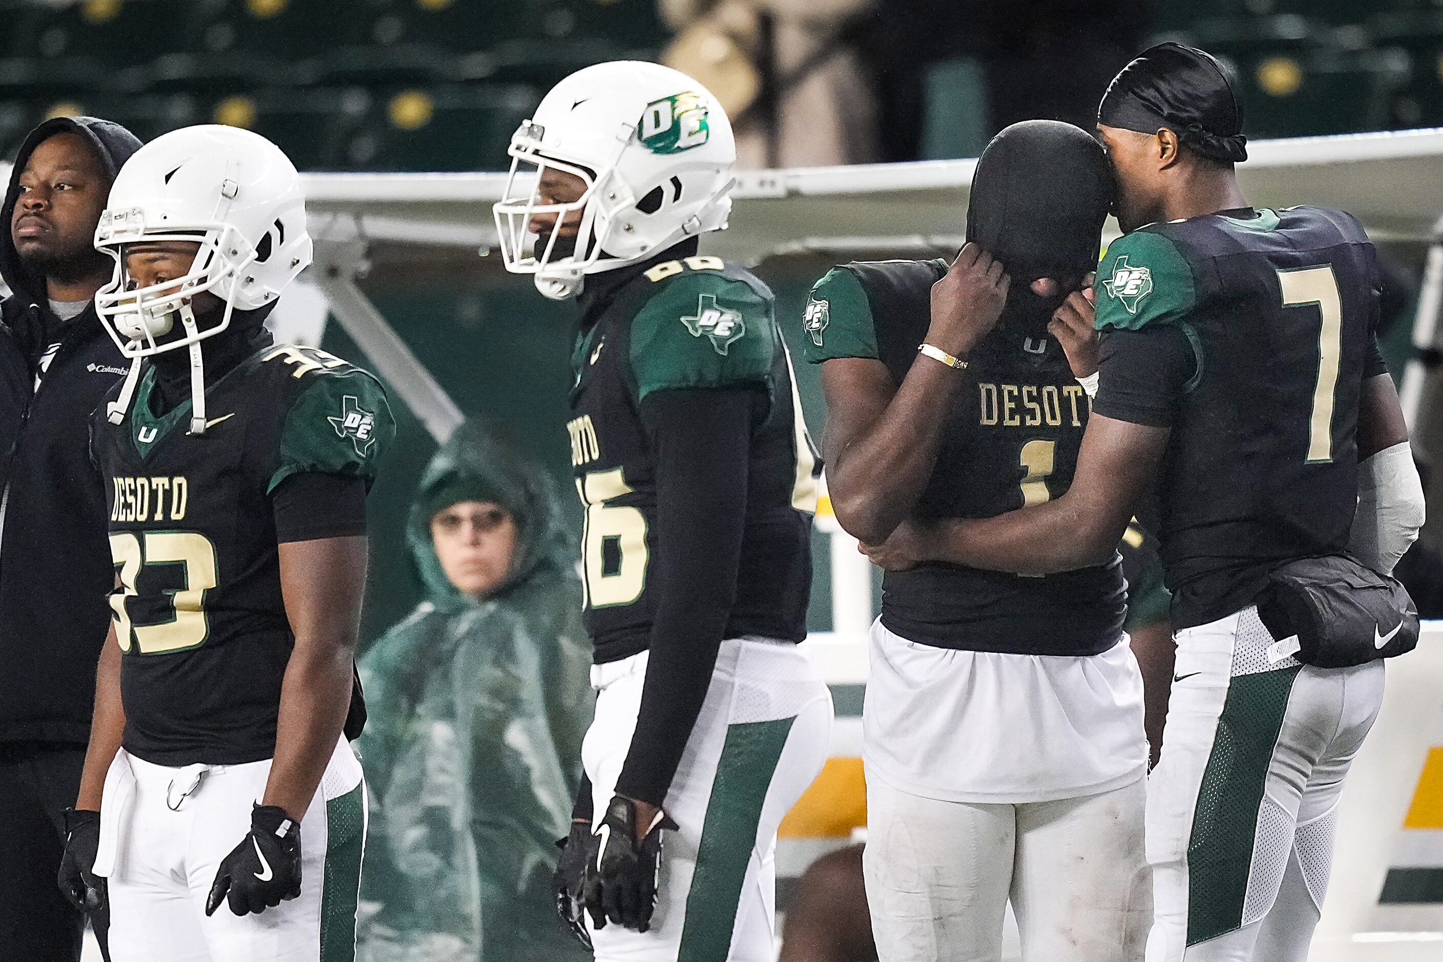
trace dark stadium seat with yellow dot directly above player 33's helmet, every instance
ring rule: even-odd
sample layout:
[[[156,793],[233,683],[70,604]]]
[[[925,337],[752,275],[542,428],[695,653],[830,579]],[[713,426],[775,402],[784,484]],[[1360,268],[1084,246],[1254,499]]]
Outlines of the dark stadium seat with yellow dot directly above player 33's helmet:
[[[254,130],[300,170],[345,170],[345,147],[371,104],[361,88],[268,89],[218,98],[199,123]]]

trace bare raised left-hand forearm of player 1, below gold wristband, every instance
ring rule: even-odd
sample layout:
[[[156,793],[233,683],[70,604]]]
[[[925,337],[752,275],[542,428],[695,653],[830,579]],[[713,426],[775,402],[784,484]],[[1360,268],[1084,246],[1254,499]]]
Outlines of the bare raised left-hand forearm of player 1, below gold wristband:
[[[863,542],[902,524],[932,477],[937,451],[965,374],[918,356],[882,414],[827,463],[837,521]]]

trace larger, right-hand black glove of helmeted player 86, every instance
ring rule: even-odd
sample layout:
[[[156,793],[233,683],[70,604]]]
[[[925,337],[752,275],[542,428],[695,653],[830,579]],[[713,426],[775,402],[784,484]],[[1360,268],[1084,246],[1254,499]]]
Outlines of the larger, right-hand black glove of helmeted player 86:
[[[612,796],[606,818],[592,839],[593,857],[587,860],[583,900],[592,925],[606,927],[606,920],[636,932],[651,927],[657,907],[657,881],[661,874],[661,831],[677,824],[659,812],[641,841],[636,839],[636,803]]]

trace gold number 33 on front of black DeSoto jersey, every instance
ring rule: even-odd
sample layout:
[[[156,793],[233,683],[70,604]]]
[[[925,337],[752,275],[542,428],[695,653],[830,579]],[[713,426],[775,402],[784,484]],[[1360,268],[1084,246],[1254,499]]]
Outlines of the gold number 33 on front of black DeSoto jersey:
[[[110,596],[115,612],[115,639],[128,652],[131,639],[141,655],[177,652],[203,645],[211,627],[205,619],[205,593],[216,586],[215,545],[193,531],[147,531],[141,537],[127,532],[110,537],[110,555],[120,568],[120,594]],[[175,617],[162,625],[133,625],[126,599],[136,597],[140,570],[153,564],[185,565],[185,587],[167,590]]]

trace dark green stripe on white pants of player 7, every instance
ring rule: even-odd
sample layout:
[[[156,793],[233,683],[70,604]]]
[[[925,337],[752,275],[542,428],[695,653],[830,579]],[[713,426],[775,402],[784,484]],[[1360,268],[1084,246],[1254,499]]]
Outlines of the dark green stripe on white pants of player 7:
[[[1228,684],[1188,841],[1188,945],[1242,926],[1263,789],[1299,671]]]

